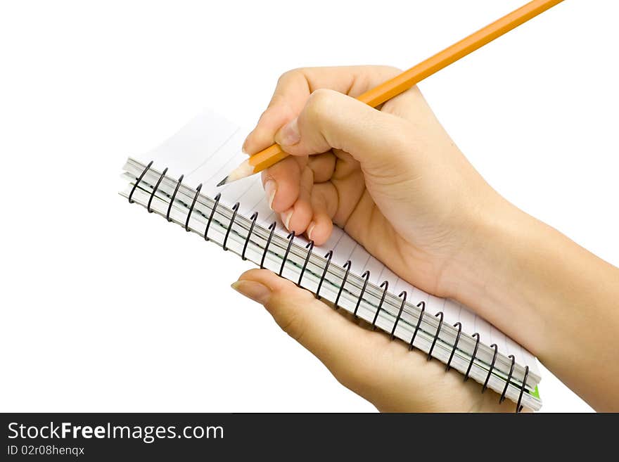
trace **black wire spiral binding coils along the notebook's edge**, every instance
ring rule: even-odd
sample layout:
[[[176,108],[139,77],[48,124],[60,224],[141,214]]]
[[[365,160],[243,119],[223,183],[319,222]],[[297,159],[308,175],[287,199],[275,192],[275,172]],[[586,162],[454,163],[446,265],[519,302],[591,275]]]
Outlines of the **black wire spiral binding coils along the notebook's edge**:
[[[148,165],[146,165],[146,167],[143,169],[143,172],[141,172],[140,176],[136,178],[136,182],[133,185],[132,190],[130,191],[129,196],[128,196],[129,203],[134,203],[134,200],[132,199],[132,197],[134,195],[134,192],[136,191],[136,188],[139,186],[139,184],[141,183],[141,181],[145,177],[145,175],[148,172],[148,170],[151,169],[152,165],[153,165],[153,161],[151,160],[151,162],[148,162]],[[155,194],[159,190],[160,184],[161,184],[163,178],[166,176],[167,171],[168,171],[168,169],[166,167],[161,172],[158,180],[156,181],[155,186],[153,188],[153,191],[151,191],[151,194],[150,194],[150,196],[148,198],[148,204],[146,205],[146,210],[148,210],[149,213],[153,212],[153,210],[151,209],[151,204],[153,202],[153,198],[155,197]],[[177,184],[174,187],[174,192],[172,193],[172,196],[170,196],[170,204],[168,205],[167,212],[165,214],[165,218],[167,219],[168,222],[172,222],[172,219],[170,219],[170,212],[172,211],[172,205],[174,204],[174,199],[176,198],[176,196],[177,196],[177,194],[179,192],[179,188],[180,188],[180,186],[182,184],[183,179],[184,179],[184,175],[181,175],[179,177],[179,179],[177,180]],[[189,229],[189,221],[191,219],[191,214],[193,213],[193,210],[194,210],[194,208],[196,206],[196,203],[198,201],[198,197],[200,195],[200,191],[202,189],[202,186],[203,186],[202,184],[199,184],[198,187],[195,190],[196,193],[193,196],[193,200],[191,202],[191,206],[189,207],[189,212],[187,214],[187,218],[186,218],[186,221],[185,221],[185,224],[184,224],[185,231],[191,231],[191,229]],[[213,202],[212,209],[210,211],[210,216],[208,217],[208,222],[206,224],[206,228],[205,228],[205,231],[204,231],[204,239],[205,240],[210,240],[210,238],[208,237],[208,230],[210,228],[210,224],[211,224],[213,218],[215,217],[215,210],[217,209],[217,206],[219,205],[219,199],[220,198],[221,198],[221,193],[217,193],[217,195],[215,195],[215,198],[213,199],[214,202]],[[228,250],[228,248],[226,247],[226,243],[227,243],[227,240],[228,240],[228,237],[229,237],[229,233],[230,233],[230,231],[232,229],[232,226],[234,225],[234,221],[235,221],[236,215],[238,213],[238,208],[239,208],[239,203],[237,202],[232,207],[232,211],[233,211],[232,217],[231,217],[230,222],[228,224],[228,227],[226,229],[226,234],[225,234],[225,237],[224,237],[224,241],[222,243],[222,248],[224,250]],[[248,248],[248,243],[249,243],[250,238],[252,236],[252,233],[254,231],[257,217],[258,217],[258,213],[257,212],[254,212],[252,214],[252,216],[250,217],[250,221],[251,221],[250,228],[249,228],[249,231],[248,231],[248,235],[245,238],[245,243],[243,245],[243,251],[241,252],[241,258],[243,260],[247,259],[245,257],[245,251]],[[273,222],[272,224],[270,224],[268,229],[269,229],[270,233],[269,233],[269,237],[267,238],[267,242],[264,245],[264,251],[262,253],[262,259],[260,260],[260,268],[264,268],[264,259],[267,256],[267,252],[269,250],[269,245],[272,242],[274,231],[276,229],[276,222]],[[283,260],[282,260],[282,263],[281,263],[281,267],[279,268],[279,276],[281,276],[281,274],[283,273],[283,268],[285,267],[286,262],[288,261],[288,255],[290,254],[290,251],[291,251],[291,248],[292,248],[292,245],[293,245],[293,241],[295,239],[295,232],[291,231],[291,233],[288,234],[287,239],[288,239],[288,247],[286,248],[286,252],[283,255]],[[307,269],[307,264],[309,263],[309,258],[311,257],[312,251],[314,250],[314,241],[310,240],[309,243],[307,243],[307,245],[305,245],[305,248],[307,249],[307,255],[305,256],[305,261],[303,262],[303,266],[302,266],[302,269],[301,269],[301,272],[300,272],[300,276],[299,276],[299,279],[298,279],[298,282],[297,282],[298,286],[301,285],[301,281],[302,281],[303,275],[305,274],[305,271]],[[329,266],[331,264],[332,257],[333,257],[333,250],[329,250],[326,253],[326,255],[324,256],[324,258],[326,259],[326,262],[325,262],[325,265],[324,265],[324,270],[323,270],[322,276],[321,276],[320,281],[318,283],[318,288],[316,290],[316,297],[317,297],[318,300],[321,299],[321,297],[320,297],[320,290],[321,290],[322,284],[324,283],[324,280],[326,278],[326,274],[328,273],[328,268],[329,268]],[[344,277],[342,279],[342,283],[340,284],[338,295],[336,297],[336,302],[333,304],[333,307],[335,307],[335,309],[339,308],[338,302],[340,300],[340,295],[342,294],[342,292],[344,290],[344,285],[345,285],[345,283],[347,281],[348,275],[350,274],[351,267],[352,267],[352,262],[350,260],[348,260],[344,264],[344,266],[343,266],[343,268],[345,269],[345,274],[344,274]],[[355,316],[355,318],[358,317],[357,316],[357,312],[359,310],[359,306],[360,306],[362,300],[365,300],[364,299],[364,294],[366,293],[366,288],[367,288],[367,285],[369,283],[370,271],[367,271],[367,270],[364,271],[364,273],[362,274],[361,278],[364,279],[364,283],[363,283],[361,292],[359,293],[359,297],[357,297],[357,304],[355,305],[355,310],[353,312],[353,315]],[[380,285],[380,288],[383,289],[383,294],[381,296],[380,302],[378,302],[378,307],[376,309],[376,312],[374,313],[374,319],[372,320],[372,323],[371,323],[371,326],[374,329],[376,329],[376,321],[378,320],[378,315],[380,314],[381,309],[383,309],[383,303],[385,302],[385,297],[386,297],[386,295],[388,293],[389,282],[388,281],[383,281],[383,283],[381,283],[381,285]],[[402,318],[402,313],[404,312],[404,307],[406,306],[406,302],[407,302],[407,293],[406,293],[406,291],[402,291],[402,293],[400,293],[400,295],[398,295],[398,297],[402,298],[402,304],[400,305],[400,310],[397,313],[397,316],[395,318],[395,322],[393,323],[393,327],[391,329],[391,333],[390,333],[391,340],[393,340],[395,338],[395,330],[397,328],[398,323],[400,322],[400,319]],[[416,306],[421,311],[419,312],[419,319],[417,320],[417,323],[416,323],[416,326],[415,326],[415,329],[414,329],[414,333],[413,333],[413,335],[411,337],[411,340],[409,342],[409,349],[410,350],[414,349],[414,341],[415,341],[417,333],[419,332],[419,328],[421,327],[421,321],[423,319],[423,315],[426,312],[426,302],[421,301]],[[428,356],[427,356],[428,361],[432,358],[432,353],[433,353],[434,347],[436,345],[436,342],[440,338],[440,331],[441,331],[442,323],[443,323],[443,312],[438,312],[437,314],[435,314],[435,316],[440,317],[440,321],[438,323],[438,328],[437,328],[436,333],[434,335],[433,341],[432,341],[432,343],[430,345],[430,349],[428,350]],[[454,341],[454,345],[452,347],[452,351],[449,354],[449,359],[447,360],[447,364],[445,366],[445,371],[449,371],[449,369],[451,368],[452,359],[454,358],[454,354],[455,354],[456,350],[458,349],[458,345],[459,345],[459,341],[460,341],[460,337],[461,337],[461,332],[462,332],[462,324],[457,322],[457,323],[454,324],[454,328],[458,328],[458,332],[457,332],[457,335],[456,335],[456,340]],[[476,338],[476,343],[475,343],[475,347],[473,348],[473,354],[471,354],[471,361],[468,363],[468,368],[466,369],[466,373],[464,374],[464,381],[465,382],[466,382],[466,380],[468,380],[469,374],[471,373],[471,368],[473,367],[473,363],[474,363],[474,361],[476,359],[476,355],[477,355],[479,344],[480,344],[480,335],[479,335],[479,333],[474,333],[472,335],[472,337]],[[494,354],[492,356],[492,362],[490,364],[490,368],[489,368],[487,376],[485,378],[485,382],[483,383],[483,387],[482,387],[481,392],[485,392],[485,390],[487,389],[488,382],[490,380],[490,377],[492,376],[492,372],[494,371],[494,365],[495,365],[495,363],[497,361],[497,356],[499,354],[499,349],[497,347],[497,344],[493,343],[492,345],[490,345],[490,348],[494,349]],[[513,376],[513,370],[514,370],[514,367],[515,367],[515,364],[516,364],[516,358],[513,356],[513,354],[510,354],[509,358],[511,358],[511,366],[510,366],[510,369],[509,369],[509,374],[508,374],[507,379],[505,381],[505,386],[504,386],[503,392],[501,394],[501,397],[499,398],[499,403],[504,402],[504,400],[506,399],[507,390],[508,390],[511,378]],[[524,373],[523,383],[522,383],[522,385],[520,387],[520,393],[518,394],[518,402],[516,404],[516,413],[522,411],[522,409],[523,409],[523,406],[521,405],[521,402],[522,402],[523,394],[525,392],[525,387],[526,387],[526,382],[527,382],[528,375],[529,375],[529,366],[525,366],[525,373]]]

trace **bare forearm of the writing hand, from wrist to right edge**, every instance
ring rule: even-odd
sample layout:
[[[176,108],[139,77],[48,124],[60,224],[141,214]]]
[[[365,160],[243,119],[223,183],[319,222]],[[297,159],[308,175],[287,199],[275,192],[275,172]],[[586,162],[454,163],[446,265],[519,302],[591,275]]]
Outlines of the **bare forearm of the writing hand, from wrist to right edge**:
[[[595,409],[618,411],[619,269],[502,199],[488,211],[447,273],[450,295]]]

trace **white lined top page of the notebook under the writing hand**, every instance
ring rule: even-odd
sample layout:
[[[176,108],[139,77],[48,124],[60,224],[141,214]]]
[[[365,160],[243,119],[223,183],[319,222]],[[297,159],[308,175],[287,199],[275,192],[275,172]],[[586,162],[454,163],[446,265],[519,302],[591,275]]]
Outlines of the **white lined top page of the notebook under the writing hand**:
[[[248,130],[240,129],[236,124],[205,110],[158,148],[132,157],[145,165],[150,160],[155,160],[155,167],[168,167],[167,174],[170,177],[179,178],[184,174],[183,184],[192,188],[203,184],[202,193],[205,195],[215,197],[217,193],[221,193],[220,202],[228,207],[238,202],[238,213],[245,217],[258,212],[257,223],[267,228],[272,222],[279,221],[279,216],[269,209],[260,175],[217,188],[217,183],[247,158],[241,153],[247,133]],[[276,233],[286,238],[287,232],[282,226],[278,226]],[[307,240],[304,236],[298,236],[295,243],[305,246]],[[529,366],[530,373],[540,376],[535,357],[521,345],[459,302],[435,297],[402,281],[385,264],[369,255],[363,246],[343,229],[334,227],[328,241],[314,248],[314,252],[321,256],[328,250],[333,250],[334,263],[342,266],[350,260],[353,263],[352,271],[358,275],[369,270],[371,283],[380,285],[385,280],[389,281],[390,292],[397,295],[405,290],[408,300],[414,300],[414,303],[423,300],[428,313],[444,312],[445,323],[453,325],[461,322],[463,332],[478,332],[483,343],[496,343],[502,354],[513,354],[518,364]]]

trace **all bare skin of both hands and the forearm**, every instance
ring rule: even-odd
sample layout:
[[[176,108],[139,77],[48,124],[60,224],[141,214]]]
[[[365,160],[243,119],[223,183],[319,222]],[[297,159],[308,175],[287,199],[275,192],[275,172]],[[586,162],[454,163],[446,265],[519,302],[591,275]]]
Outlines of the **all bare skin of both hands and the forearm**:
[[[340,226],[404,280],[520,342],[594,409],[619,411],[619,269],[494,191],[416,87],[380,110],[351,98],[398,72],[305,68],[279,79],[243,146],[276,141],[291,154],[262,174],[272,210],[317,244]],[[381,411],[513,411],[270,271],[233,287]]]

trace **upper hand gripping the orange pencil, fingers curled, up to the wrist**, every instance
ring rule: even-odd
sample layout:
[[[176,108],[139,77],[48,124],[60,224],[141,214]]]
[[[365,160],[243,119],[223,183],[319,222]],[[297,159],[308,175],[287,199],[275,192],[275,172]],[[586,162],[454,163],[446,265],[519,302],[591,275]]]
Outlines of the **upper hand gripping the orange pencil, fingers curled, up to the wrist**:
[[[504,201],[418,89],[381,110],[350,97],[399,72],[378,66],[286,72],[244,150],[256,153],[276,140],[291,154],[262,175],[272,210],[289,231],[320,245],[334,223],[406,281],[454,296],[443,283],[454,278],[443,275],[480,241],[480,216]]]

